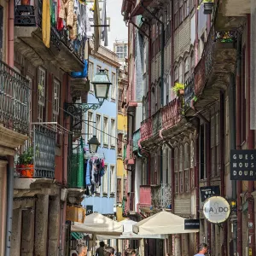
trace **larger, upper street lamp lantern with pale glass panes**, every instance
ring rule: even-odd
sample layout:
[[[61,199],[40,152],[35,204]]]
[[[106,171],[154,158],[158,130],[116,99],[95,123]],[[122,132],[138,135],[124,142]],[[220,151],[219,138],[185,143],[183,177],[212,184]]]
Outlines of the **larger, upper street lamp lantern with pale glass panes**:
[[[96,99],[100,103],[103,103],[108,98],[109,86],[112,84],[105,70],[100,69],[99,73],[96,73],[96,76],[91,81],[91,84],[93,84]]]

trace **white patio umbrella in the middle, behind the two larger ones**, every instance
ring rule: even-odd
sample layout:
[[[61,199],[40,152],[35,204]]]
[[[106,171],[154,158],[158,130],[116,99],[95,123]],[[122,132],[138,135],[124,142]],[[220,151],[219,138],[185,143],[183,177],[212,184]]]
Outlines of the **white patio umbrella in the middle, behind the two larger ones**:
[[[137,235],[132,232],[132,226],[134,224],[137,224],[136,221],[133,221],[131,219],[125,219],[119,222],[119,224],[124,225],[124,232],[120,236],[101,236],[98,235],[96,236],[97,240],[107,240],[107,239],[166,239],[168,236],[167,235]]]

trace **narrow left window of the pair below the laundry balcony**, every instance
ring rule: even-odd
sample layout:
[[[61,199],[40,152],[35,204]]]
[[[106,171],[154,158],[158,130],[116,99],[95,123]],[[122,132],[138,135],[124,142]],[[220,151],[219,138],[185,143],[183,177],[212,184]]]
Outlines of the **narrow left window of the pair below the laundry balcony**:
[[[38,69],[38,121],[44,122],[45,111],[45,78],[46,74],[42,67]]]

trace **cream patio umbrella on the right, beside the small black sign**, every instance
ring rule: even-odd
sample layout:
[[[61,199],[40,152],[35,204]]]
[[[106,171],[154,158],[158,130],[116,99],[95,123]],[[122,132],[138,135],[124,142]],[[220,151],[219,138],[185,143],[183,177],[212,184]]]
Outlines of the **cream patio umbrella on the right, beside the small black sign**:
[[[185,218],[163,211],[134,224],[132,230],[134,233],[141,236],[199,232],[199,230],[185,230],[184,220]]]

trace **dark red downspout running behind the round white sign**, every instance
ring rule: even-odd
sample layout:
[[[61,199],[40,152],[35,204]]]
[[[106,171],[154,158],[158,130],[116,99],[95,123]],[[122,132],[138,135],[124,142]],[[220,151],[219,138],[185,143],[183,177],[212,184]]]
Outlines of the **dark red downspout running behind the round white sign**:
[[[224,93],[219,93],[219,160],[220,160],[220,195],[225,197],[225,168],[224,168]],[[218,168],[218,166],[217,166]],[[223,232],[227,233],[227,222],[225,221],[223,224]],[[221,247],[221,254],[227,255],[227,236],[224,236],[223,244]]]

